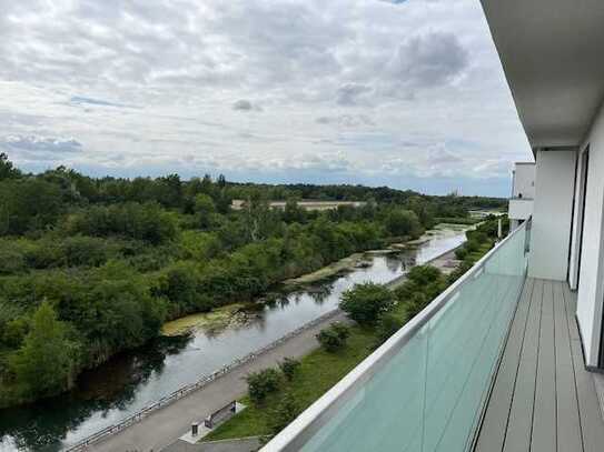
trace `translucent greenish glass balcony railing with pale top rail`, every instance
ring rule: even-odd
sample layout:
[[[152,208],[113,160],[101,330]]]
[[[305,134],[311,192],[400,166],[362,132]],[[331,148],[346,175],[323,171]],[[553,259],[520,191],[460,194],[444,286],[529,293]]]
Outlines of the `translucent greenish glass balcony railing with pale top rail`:
[[[468,451],[526,277],[524,222],[263,451]]]

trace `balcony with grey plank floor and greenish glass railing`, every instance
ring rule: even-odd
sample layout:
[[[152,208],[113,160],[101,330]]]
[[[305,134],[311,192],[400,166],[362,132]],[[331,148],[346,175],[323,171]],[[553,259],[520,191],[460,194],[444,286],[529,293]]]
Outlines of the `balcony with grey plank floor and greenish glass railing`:
[[[264,451],[602,448],[604,423],[594,382],[583,369],[574,298],[562,283],[526,279],[529,224]]]

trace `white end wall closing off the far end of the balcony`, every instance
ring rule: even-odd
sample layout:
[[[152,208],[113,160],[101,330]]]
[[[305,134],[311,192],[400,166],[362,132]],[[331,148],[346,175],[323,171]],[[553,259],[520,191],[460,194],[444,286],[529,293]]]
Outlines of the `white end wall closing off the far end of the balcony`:
[[[575,158],[574,150],[537,151],[529,277],[566,281]]]

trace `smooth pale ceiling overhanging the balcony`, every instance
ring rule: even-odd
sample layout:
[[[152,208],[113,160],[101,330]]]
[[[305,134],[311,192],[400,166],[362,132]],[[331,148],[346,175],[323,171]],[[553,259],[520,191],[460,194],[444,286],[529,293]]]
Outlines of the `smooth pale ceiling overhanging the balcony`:
[[[481,0],[533,148],[577,145],[604,99],[604,0]]]

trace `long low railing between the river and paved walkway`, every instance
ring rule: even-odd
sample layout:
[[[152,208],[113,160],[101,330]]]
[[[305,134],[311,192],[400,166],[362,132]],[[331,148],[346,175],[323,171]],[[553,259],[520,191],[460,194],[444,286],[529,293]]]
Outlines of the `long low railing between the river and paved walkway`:
[[[259,355],[269,352],[270,350],[277,348],[278,345],[280,345],[285,341],[289,340],[290,338],[294,338],[294,337],[300,334],[301,332],[304,332],[304,331],[306,331],[306,330],[308,330],[308,329],[310,329],[313,327],[316,327],[316,325],[318,325],[318,324],[320,324],[320,323],[336,317],[340,312],[341,311],[339,309],[336,309],[334,311],[329,311],[329,312],[327,312],[327,313],[311,320],[308,323],[305,323],[304,325],[297,328],[296,330],[290,331],[289,333],[285,334],[284,337],[277,339],[276,341],[270,342],[268,345],[265,345],[265,346],[263,346],[261,349],[259,349],[259,350],[257,350],[255,352],[248,353],[245,356],[232,361],[230,364],[227,364],[227,365],[220,368],[216,372],[212,372],[209,375],[202,376],[201,379],[197,380],[195,383],[187,384],[187,385],[174,391],[172,393],[170,393],[170,394],[159,399],[158,401],[145,406],[143,409],[137,411],[135,414],[131,414],[128,418],[122,419],[118,423],[106,426],[105,429],[92,433],[90,436],[87,436],[83,440],[80,440],[76,444],[63,449],[63,451],[66,451],[66,452],[85,451],[91,444],[97,443],[97,442],[99,442],[101,440],[105,440],[105,439],[116,434],[116,433],[121,432],[126,428],[128,428],[128,426],[141,421],[142,419],[147,418],[149,414],[154,413],[155,411],[157,411],[159,409],[162,409],[165,406],[168,406],[169,404],[176,402],[177,400],[182,399],[184,396],[190,394],[191,392],[197,391],[197,390],[206,386],[207,384],[211,383],[216,379],[218,379],[218,378],[227,374],[228,372],[230,372],[230,371],[232,371],[232,370],[248,363],[249,361],[258,358]]]

